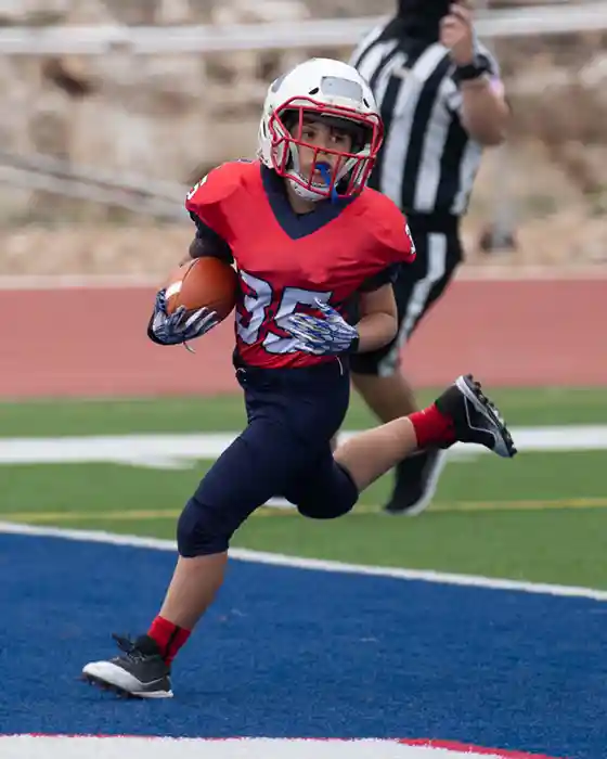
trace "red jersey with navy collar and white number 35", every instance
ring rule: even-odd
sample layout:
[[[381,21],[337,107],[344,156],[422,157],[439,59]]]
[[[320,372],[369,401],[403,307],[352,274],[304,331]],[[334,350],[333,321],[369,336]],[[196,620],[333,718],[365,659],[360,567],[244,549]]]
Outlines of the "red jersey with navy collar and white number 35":
[[[365,188],[356,198],[325,201],[297,215],[284,180],[257,160],[214,169],[189,193],[185,207],[232,253],[241,283],[237,352],[254,366],[328,360],[297,350],[280,321],[296,311],[321,317],[317,298],[344,314],[367,281],[415,257],[406,221],[385,195]]]

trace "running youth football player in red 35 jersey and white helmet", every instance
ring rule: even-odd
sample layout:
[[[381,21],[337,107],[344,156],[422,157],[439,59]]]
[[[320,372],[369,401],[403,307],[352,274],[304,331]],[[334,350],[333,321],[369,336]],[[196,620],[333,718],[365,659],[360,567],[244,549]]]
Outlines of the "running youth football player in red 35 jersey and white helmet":
[[[332,451],[348,409],[349,357],[395,337],[392,271],[415,256],[400,210],[365,186],[382,134],[360,74],[313,59],[271,85],[258,159],[224,164],[189,194],[191,255],[237,268],[234,365],[248,424],[183,509],[179,557],[158,615],[137,640],[115,636],[118,656],[87,664],[90,682],[132,696],[172,696],[172,661],[222,583],[232,535],[271,497],[286,498],[305,517],[332,519],[413,451],[460,440],[504,458],[516,453],[472,376],[423,411]],[[354,297],[359,319],[350,324]],[[207,309],[168,316],[160,291],[148,335],[178,345],[216,323]]]

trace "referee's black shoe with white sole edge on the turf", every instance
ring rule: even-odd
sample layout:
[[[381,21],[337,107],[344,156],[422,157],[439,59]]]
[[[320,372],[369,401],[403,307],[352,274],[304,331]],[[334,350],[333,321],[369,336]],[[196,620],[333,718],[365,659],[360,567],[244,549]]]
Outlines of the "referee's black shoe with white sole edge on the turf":
[[[425,511],[435,497],[445,463],[447,453],[442,450],[419,451],[403,459],[397,464],[395,489],[384,511],[405,516]]]

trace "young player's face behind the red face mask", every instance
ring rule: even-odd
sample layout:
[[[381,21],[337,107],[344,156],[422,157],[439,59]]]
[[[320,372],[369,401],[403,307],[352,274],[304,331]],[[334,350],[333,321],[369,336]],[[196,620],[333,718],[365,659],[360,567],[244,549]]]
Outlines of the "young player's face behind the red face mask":
[[[320,118],[305,116],[301,124],[301,132],[299,132],[299,125],[296,125],[292,130],[292,134],[296,140],[306,143],[306,145],[298,145],[300,171],[306,179],[310,178],[310,171],[314,164],[328,164],[330,169],[333,171],[337,166],[339,156],[332,151],[337,151],[338,153],[350,153],[352,151],[352,136],[337,126],[323,124]],[[313,182],[322,180],[321,172],[315,169],[311,179]]]

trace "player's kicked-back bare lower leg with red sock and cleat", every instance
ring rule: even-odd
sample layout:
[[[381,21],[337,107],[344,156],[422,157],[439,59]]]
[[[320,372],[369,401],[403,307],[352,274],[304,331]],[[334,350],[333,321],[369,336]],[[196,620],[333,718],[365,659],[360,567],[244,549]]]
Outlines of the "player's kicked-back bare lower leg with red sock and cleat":
[[[457,377],[428,408],[350,438],[334,458],[360,492],[415,451],[457,441],[485,446],[506,459],[516,453],[499,410],[472,375]]]

